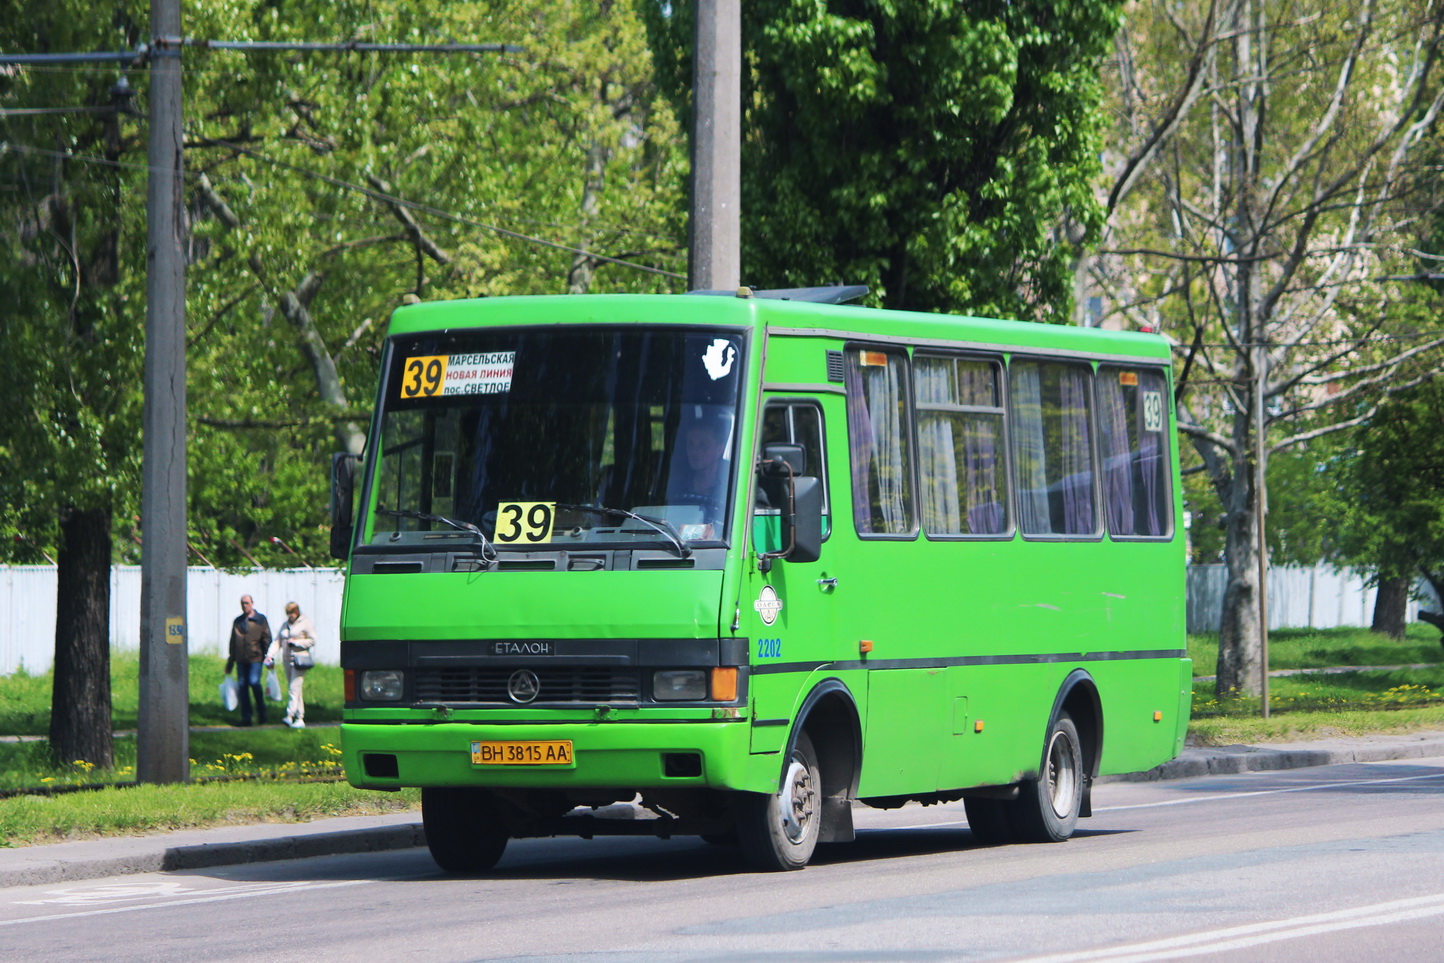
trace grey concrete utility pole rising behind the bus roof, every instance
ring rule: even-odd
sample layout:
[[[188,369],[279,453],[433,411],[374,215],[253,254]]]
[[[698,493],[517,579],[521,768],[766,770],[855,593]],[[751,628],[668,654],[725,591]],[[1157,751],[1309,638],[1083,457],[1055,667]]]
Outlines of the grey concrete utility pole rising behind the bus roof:
[[[742,279],[742,4],[697,0],[692,82],[692,212],[687,287]]]

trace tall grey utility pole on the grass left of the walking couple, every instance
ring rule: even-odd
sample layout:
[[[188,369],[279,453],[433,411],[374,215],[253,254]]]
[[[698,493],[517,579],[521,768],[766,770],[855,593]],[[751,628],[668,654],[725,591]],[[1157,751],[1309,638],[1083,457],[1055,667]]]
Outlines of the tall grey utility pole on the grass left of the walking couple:
[[[185,205],[180,0],[150,0],[146,189],[146,403],[140,526],[140,716],[136,778],[191,775],[185,592]]]

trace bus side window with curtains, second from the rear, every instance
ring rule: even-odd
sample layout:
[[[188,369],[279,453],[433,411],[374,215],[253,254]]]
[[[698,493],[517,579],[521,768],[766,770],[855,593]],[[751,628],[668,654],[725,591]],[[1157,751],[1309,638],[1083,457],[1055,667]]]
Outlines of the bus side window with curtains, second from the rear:
[[[1008,375],[1018,527],[1025,536],[1096,536],[1092,371],[1015,358]]]

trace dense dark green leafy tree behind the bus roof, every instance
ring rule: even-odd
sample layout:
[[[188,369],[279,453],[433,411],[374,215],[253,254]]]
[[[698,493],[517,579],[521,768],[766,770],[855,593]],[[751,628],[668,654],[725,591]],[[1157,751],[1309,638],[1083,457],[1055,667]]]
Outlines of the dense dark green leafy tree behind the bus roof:
[[[1067,321],[1100,227],[1112,0],[742,4],[742,274],[877,303]],[[690,88],[692,6],[654,0]]]

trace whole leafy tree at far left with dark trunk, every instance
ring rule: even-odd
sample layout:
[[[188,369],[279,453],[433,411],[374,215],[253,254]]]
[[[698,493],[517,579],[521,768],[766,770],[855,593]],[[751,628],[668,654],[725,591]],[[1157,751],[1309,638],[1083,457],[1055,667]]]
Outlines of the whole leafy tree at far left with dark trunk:
[[[111,9],[104,23],[75,3],[6,6],[6,49],[85,51],[140,38],[134,4]],[[0,101],[56,111],[4,121],[0,513],[58,562],[51,752],[100,767],[113,762],[111,524],[136,504],[144,303],[143,230],[136,244],[142,222],[126,201],[144,193],[144,173],[126,166],[144,150],[136,152],[137,118],[117,77],[0,77]]]

